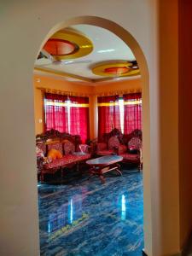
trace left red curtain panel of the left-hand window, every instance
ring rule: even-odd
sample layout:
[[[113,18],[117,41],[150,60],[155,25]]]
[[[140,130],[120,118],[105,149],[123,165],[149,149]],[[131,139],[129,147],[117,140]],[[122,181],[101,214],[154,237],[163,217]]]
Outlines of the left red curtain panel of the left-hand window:
[[[45,131],[55,129],[68,132],[67,96],[52,93],[44,94]]]

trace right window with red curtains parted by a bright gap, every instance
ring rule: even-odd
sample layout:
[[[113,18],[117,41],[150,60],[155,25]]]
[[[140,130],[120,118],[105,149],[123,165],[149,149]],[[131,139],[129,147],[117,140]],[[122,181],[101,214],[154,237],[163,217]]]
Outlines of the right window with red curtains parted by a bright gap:
[[[98,133],[108,133],[117,128],[129,134],[142,129],[142,94],[132,93],[119,96],[101,96],[97,98]]]

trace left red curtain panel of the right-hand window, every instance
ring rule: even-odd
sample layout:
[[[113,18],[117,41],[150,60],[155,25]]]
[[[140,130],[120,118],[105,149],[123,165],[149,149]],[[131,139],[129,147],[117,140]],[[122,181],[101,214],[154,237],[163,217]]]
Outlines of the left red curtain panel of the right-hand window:
[[[119,96],[100,96],[98,103],[98,136],[113,128],[120,130]]]

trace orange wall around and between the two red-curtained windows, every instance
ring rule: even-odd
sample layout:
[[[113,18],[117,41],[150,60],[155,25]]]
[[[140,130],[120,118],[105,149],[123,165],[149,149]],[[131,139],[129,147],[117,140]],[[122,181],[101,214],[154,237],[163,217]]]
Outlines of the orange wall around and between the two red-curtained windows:
[[[71,91],[79,94],[89,94],[90,98],[90,137],[97,137],[97,112],[96,95],[108,94],[124,91],[141,90],[141,80],[127,80],[123,82],[113,82],[100,84],[97,86],[82,85],[67,82],[63,79],[34,75],[34,108],[35,108],[35,131],[36,134],[44,131],[44,93],[38,88],[47,88],[51,90]]]

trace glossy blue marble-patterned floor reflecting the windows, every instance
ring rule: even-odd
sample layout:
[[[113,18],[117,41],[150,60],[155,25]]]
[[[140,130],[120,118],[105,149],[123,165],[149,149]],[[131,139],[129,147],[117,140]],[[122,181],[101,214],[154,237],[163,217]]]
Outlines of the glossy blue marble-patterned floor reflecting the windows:
[[[142,174],[68,180],[38,184],[41,255],[142,255]]]

